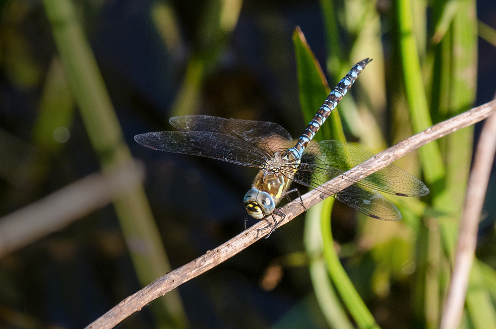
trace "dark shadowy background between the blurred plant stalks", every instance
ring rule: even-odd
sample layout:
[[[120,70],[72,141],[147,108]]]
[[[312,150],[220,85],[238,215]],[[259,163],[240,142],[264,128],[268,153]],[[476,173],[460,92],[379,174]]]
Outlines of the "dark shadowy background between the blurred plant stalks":
[[[320,2],[246,0],[239,17],[234,15],[233,27],[211,38],[209,29],[214,28],[208,15],[220,2],[72,2],[125,142],[132,156],[145,165],[146,196],[173,269],[244,230],[243,196],[256,170],[150,150],[134,142],[133,136],[172,130],[168,119],[178,114],[271,121],[293,137],[299,136],[305,122],[291,39],[297,25],[329,84],[340,78],[328,74]],[[345,1],[345,5],[355,2]],[[52,26],[42,1],[9,0],[1,4],[0,215],[7,215],[98,172],[100,160],[71,99],[67,100],[65,119],[61,119],[61,127],[66,129],[63,133],[68,133],[62,136],[63,142],[44,143],[37,137],[42,125],[40,103],[58,52]],[[376,5],[384,23],[387,61],[393,48],[387,39],[390,3],[379,0]],[[170,25],[169,14],[177,25]],[[495,1],[478,1],[477,15],[496,28]],[[429,12],[426,17],[427,22],[432,20]],[[339,38],[346,44],[350,37],[343,32]],[[496,90],[495,47],[479,39],[478,52],[474,105],[490,101]],[[195,58],[196,64],[192,63]],[[196,86],[194,79],[187,82],[185,78],[195,72],[191,68],[194,65],[202,69]],[[184,101],[178,100],[179,94]],[[380,127],[387,124],[379,122]],[[479,129],[477,126],[476,134]],[[358,139],[349,130],[347,133],[349,139]],[[491,201],[495,189],[492,178],[488,190],[491,198],[486,200],[486,220],[480,231],[486,248],[480,253],[495,260],[493,265],[494,247],[488,245],[495,241],[496,209]],[[335,206],[332,225],[337,244],[346,246],[355,241],[356,217],[346,206]],[[250,218],[248,225],[254,222]],[[269,239],[179,287],[190,328],[328,328],[314,296],[303,232],[304,219],[297,218]],[[2,255],[0,327],[87,326],[142,287],[128,247],[109,203]],[[341,255],[346,259],[346,250]],[[381,328],[422,328],[411,321],[413,292],[408,280],[393,283],[385,295],[371,290],[371,258],[373,255],[363,253],[360,264],[351,264],[349,273]],[[276,274],[267,274],[267,269]],[[264,283],[270,278],[275,283]],[[167,328],[154,315],[157,303],[134,314],[119,328]]]

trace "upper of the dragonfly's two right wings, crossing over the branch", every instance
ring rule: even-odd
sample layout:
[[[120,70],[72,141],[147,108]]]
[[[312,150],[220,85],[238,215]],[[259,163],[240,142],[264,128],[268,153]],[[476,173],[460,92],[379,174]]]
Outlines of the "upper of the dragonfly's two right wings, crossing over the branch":
[[[309,146],[303,157],[306,160],[302,158],[302,164],[311,163],[315,178],[326,182],[376,156],[345,141],[323,140]],[[385,163],[381,159],[379,161]],[[381,192],[404,197],[422,197],[429,193],[429,189],[415,176],[391,164],[372,174],[364,170],[363,175],[368,176],[358,185]]]

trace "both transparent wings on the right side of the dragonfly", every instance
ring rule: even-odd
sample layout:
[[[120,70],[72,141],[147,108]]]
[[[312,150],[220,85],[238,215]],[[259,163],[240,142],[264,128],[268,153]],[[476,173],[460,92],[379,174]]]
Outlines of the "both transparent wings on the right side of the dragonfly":
[[[305,150],[293,180],[335,197],[373,218],[399,220],[401,213],[398,208],[377,191],[399,196],[419,197],[428,194],[429,189],[417,178],[398,167],[387,165],[371,175],[364,170],[364,176],[369,176],[360,181],[353,181],[355,184],[338,193],[332,186],[329,188],[322,186],[374,156],[344,141],[324,140]],[[281,172],[288,177],[292,174],[289,169],[281,170]]]

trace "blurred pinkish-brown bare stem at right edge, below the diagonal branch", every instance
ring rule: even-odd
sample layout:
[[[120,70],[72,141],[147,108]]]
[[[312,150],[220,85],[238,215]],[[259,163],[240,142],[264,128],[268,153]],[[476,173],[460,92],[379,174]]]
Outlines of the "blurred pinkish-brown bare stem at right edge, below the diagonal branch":
[[[440,329],[458,328],[460,326],[470,270],[477,244],[479,218],[484,197],[486,196],[495,151],[496,115],[492,115],[482,129],[479,143],[477,144],[474,165],[468,181],[465,204],[458,228],[455,265],[442,313]]]

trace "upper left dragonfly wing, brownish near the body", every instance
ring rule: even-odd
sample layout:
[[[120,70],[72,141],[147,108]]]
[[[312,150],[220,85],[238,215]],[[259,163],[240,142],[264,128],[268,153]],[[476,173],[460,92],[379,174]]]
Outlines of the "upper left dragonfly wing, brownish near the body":
[[[181,132],[218,132],[235,136],[265,150],[268,155],[293,146],[290,133],[273,122],[211,116],[172,117],[169,122]]]

